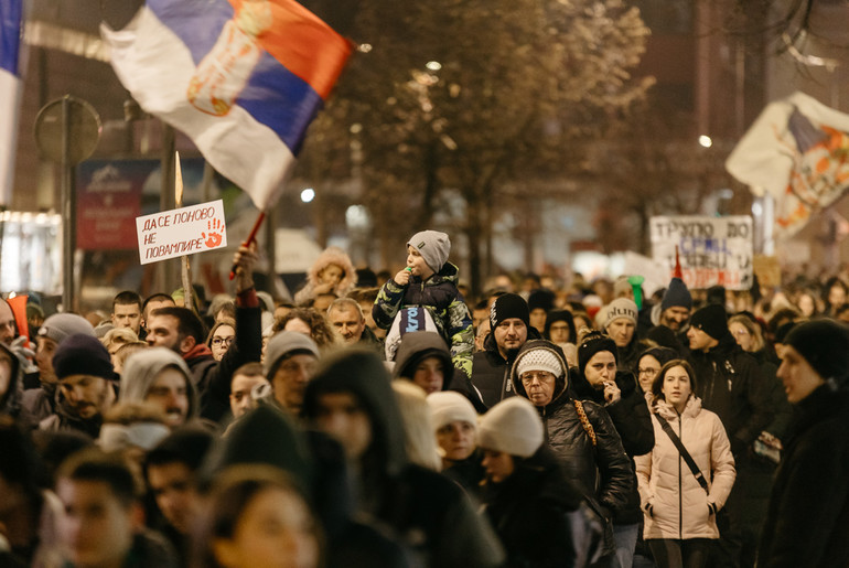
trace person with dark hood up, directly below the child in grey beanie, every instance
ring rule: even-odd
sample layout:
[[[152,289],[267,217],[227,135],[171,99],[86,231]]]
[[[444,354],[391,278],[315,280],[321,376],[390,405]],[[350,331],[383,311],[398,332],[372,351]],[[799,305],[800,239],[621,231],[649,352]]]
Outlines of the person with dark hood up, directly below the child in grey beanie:
[[[393,367],[393,378],[406,378],[426,394],[456,390],[477,408],[483,408],[480,395],[463,373],[455,373],[451,352],[439,333],[415,331],[404,335]]]

